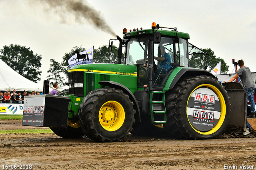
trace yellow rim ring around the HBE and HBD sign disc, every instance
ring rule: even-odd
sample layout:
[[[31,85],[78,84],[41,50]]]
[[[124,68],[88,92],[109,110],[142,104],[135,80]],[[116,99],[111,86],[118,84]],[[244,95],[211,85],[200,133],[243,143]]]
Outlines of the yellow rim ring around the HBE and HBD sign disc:
[[[220,119],[219,119],[218,123],[217,123],[212,129],[210,129],[210,130],[208,130],[208,131],[206,131],[206,132],[202,132],[202,131],[197,130],[196,128],[194,128],[194,127],[191,125],[189,119],[188,119],[188,122],[190,123],[190,126],[191,126],[196,132],[198,132],[198,133],[200,133],[200,134],[204,134],[204,135],[209,135],[209,134],[213,134],[214,132],[216,132],[216,131],[222,126],[222,124],[223,124],[223,122],[224,122],[224,120],[225,120],[225,117],[226,117],[226,102],[225,102],[225,99],[224,99],[222,93],[220,92],[220,90],[219,90],[217,87],[215,87],[215,86],[213,86],[213,85],[210,85],[210,84],[203,84],[203,85],[199,85],[198,87],[196,87],[196,88],[190,93],[190,95],[189,95],[189,97],[188,97],[188,101],[189,101],[190,96],[192,95],[192,93],[193,93],[196,89],[198,89],[198,88],[200,88],[200,87],[204,87],[204,88],[211,89],[211,90],[217,95],[217,97],[218,97],[218,99],[219,99],[219,101],[220,101],[220,108],[221,108],[221,109],[220,109]],[[186,108],[188,108],[188,101],[187,101],[187,106],[186,106]],[[187,113],[188,113],[188,111],[187,111]],[[188,118],[188,114],[187,114],[187,118]]]

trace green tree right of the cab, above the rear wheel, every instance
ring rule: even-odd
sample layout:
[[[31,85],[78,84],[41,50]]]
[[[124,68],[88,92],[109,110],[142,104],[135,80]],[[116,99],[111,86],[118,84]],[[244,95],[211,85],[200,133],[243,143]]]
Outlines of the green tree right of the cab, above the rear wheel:
[[[214,55],[214,51],[210,48],[202,50],[209,55],[193,54],[189,59],[190,67],[203,69],[207,66],[209,71],[212,71],[212,69],[221,61],[221,73],[227,73],[229,66],[225,63],[224,59],[216,57],[216,55]]]

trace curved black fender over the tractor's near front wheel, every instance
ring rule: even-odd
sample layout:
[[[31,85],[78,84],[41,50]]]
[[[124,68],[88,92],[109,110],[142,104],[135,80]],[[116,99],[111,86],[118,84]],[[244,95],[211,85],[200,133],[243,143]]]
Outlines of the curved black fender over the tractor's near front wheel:
[[[133,107],[136,111],[134,119],[136,120],[136,122],[140,122],[140,108],[139,108],[139,104],[137,99],[135,98],[134,94],[124,85],[120,84],[120,83],[116,83],[114,81],[100,81],[98,82],[100,85],[102,85],[102,87],[108,86],[108,87],[112,87],[115,89],[120,89],[122,90],[124,93],[126,93],[130,100],[132,100],[132,102],[134,103]]]

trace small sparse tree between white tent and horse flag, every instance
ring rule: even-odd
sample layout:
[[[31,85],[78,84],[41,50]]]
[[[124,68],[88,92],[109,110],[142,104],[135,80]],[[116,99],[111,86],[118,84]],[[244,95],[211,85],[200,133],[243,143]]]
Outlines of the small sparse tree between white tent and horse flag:
[[[63,82],[64,77],[61,77],[60,73],[63,73],[63,67],[60,65],[58,61],[55,61],[55,59],[50,59],[51,64],[50,68],[47,71],[47,73],[50,73],[50,75],[47,76],[48,80],[52,80],[50,84],[57,83],[60,87],[65,85]]]

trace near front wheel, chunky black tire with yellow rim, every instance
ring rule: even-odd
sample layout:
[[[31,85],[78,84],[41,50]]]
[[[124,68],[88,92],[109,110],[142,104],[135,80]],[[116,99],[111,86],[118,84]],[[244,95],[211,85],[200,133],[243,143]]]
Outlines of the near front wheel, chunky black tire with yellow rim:
[[[113,88],[90,92],[78,113],[86,136],[96,142],[119,142],[132,130],[134,114],[129,96]]]

